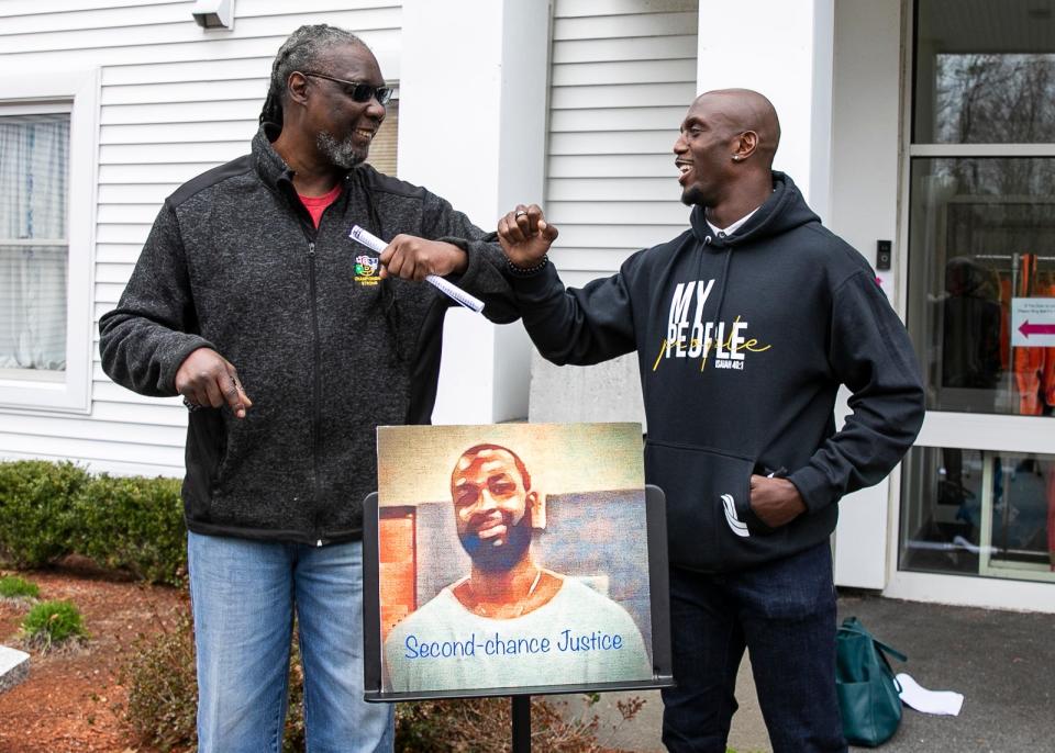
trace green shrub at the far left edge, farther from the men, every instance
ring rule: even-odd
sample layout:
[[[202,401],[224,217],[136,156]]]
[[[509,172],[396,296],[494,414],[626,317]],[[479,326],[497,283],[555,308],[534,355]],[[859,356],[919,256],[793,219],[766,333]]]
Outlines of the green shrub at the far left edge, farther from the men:
[[[40,567],[70,552],[71,501],[88,481],[73,463],[0,462],[0,559]]]

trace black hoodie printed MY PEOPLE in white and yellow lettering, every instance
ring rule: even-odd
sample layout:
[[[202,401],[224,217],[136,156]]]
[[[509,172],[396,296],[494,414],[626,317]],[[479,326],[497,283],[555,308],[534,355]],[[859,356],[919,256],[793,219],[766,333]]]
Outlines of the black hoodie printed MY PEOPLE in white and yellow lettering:
[[[865,259],[821,226],[787,176],[729,237],[692,228],[565,290],[552,265],[517,277],[544,357],[589,364],[636,350],[646,481],[667,496],[670,561],[707,572],[806,549],[836,502],[879,482],[923,420],[908,333]],[[835,431],[840,384],[853,396]],[[807,513],[776,530],[749,509],[752,473],[786,475]]]

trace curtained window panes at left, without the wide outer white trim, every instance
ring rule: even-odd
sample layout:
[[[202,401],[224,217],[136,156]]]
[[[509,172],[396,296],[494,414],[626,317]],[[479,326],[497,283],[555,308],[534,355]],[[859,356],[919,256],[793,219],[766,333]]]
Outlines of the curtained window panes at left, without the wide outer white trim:
[[[5,378],[58,381],[66,371],[69,109],[0,108],[0,373]]]

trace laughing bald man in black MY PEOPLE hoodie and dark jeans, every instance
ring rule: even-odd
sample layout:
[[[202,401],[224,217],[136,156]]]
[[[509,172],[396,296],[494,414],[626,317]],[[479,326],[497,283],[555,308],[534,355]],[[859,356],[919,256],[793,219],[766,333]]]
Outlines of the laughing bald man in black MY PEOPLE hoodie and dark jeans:
[[[865,259],[771,170],[778,142],[757,92],[699,97],[674,146],[691,228],[581,290],[548,262],[557,229],[537,206],[499,222],[543,356],[589,364],[637,352],[646,480],[667,496],[673,752],[724,753],[745,648],[774,750],[846,749],[836,503],[885,477],[923,419],[903,325]],[[836,431],[842,384],[853,413]]]

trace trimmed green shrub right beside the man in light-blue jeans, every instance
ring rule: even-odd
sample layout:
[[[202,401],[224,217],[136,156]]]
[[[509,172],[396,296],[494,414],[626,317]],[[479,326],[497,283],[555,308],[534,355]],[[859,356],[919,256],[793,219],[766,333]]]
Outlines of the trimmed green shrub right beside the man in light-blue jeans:
[[[89,480],[74,505],[74,551],[104,567],[178,585],[187,565],[179,487],[177,479],[102,474]]]

